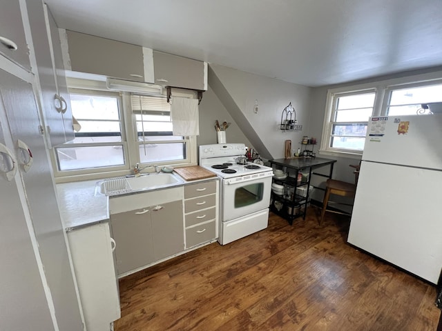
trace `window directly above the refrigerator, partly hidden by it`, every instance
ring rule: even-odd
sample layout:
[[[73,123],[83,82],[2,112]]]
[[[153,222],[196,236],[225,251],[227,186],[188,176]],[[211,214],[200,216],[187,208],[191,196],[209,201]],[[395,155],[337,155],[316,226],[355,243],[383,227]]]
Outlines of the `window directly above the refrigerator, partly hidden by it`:
[[[429,113],[426,103],[442,102],[442,84],[430,86],[392,87],[388,90],[387,114],[389,116]]]

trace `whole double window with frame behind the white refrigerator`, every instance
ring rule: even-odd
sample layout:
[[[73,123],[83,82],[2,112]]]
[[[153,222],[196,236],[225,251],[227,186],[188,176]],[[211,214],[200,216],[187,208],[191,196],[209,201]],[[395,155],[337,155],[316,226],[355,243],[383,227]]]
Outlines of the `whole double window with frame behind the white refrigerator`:
[[[327,91],[320,154],[360,156],[369,117],[430,114],[442,102],[442,72]]]

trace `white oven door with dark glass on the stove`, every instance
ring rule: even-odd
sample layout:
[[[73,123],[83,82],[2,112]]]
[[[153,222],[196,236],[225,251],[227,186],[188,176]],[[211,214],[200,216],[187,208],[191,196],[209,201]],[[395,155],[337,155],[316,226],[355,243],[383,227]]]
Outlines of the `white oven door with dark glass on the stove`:
[[[222,221],[269,208],[273,173],[253,174],[222,181]]]

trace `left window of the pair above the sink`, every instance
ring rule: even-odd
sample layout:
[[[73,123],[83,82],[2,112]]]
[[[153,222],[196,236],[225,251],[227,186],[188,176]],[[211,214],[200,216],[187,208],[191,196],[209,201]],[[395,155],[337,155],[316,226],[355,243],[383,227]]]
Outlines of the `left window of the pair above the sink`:
[[[119,94],[70,90],[70,104],[81,129],[73,141],[55,148],[58,172],[124,168],[126,141]]]

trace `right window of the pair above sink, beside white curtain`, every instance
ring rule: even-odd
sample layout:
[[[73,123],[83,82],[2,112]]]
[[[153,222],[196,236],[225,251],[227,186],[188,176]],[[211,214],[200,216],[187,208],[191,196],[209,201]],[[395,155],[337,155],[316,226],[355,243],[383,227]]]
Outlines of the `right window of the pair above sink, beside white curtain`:
[[[132,95],[140,162],[164,163],[189,160],[189,138],[173,136],[171,105],[166,97]]]

